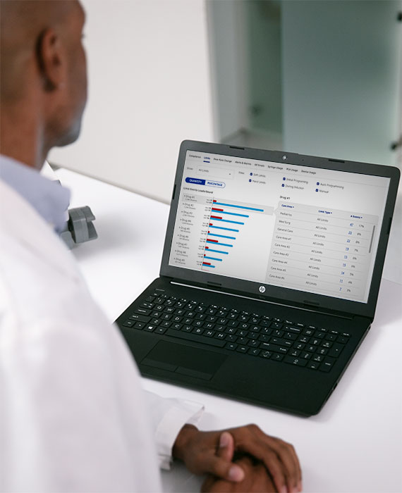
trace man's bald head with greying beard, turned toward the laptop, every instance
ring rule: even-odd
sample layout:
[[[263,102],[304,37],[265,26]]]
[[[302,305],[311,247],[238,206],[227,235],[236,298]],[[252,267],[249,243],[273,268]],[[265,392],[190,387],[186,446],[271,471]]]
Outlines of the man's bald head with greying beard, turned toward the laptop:
[[[0,0],[3,153],[8,133],[28,123],[45,155],[78,137],[87,89],[84,20],[78,0]]]

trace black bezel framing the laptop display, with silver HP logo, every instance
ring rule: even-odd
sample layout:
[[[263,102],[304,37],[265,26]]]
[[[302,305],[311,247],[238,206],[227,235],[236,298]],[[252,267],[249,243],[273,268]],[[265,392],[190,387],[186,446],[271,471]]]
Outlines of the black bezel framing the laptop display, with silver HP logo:
[[[288,289],[269,284],[262,284],[261,282],[238,280],[233,277],[207,273],[201,270],[191,270],[183,267],[170,266],[169,255],[171,251],[173,229],[178,208],[178,200],[180,196],[179,192],[182,183],[185,156],[187,151],[207,152],[211,154],[221,154],[223,156],[250,158],[262,161],[272,161],[276,163],[284,163],[284,156],[286,156],[286,163],[288,164],[322,168],[327,170],[346,171],[348,173],[360,173],[363,175],[388,177],[390,179],[389,190],[386,197],[384,218],[382,220],[382,227],[379,234],[379,243],[377,246],[377,254],[374,261],[372,282],[367,303],[329,297],[322,294],[303,292],[296,289]],[[178,155],[178,166],[173,185],[173,196],[166,230],[160,275],[171,277],[177,282],[205,286],[210,289],[219,289],[222,292],[240,294],[242,296],[252,297],[253,299],[262,299],[265,301],[272,301],[274,303],[288,304],[289,306],[311,307],[312,309],[319,309],[320,311],[336,311],[337,313],[345,313],[347,316],[366,316],[369,318],[374,318],[379,284],[382,277],[382,269],[386,254],[386,245],[389,239],[389,228],[391,225],[391,218],[394,213],[399,175],[400,173],[398,168],[394,168],[392,166],[358,163],[354,161],[341,161],[318,156],[305,156],[302,154],[294,154],[284,151],[240,148],[226,144],[211,144],[208,142],[185,140],[181,144]],[[260,286],[262,285],[265,287],[264,294],[260,293]]]

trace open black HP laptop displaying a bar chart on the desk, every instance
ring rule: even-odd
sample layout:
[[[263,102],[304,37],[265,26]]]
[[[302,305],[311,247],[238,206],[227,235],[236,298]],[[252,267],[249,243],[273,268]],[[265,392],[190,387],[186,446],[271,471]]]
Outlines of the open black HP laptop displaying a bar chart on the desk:
[[[184,141],[160,277],[116,320],[142,375],[318,413],[374,318],[399,174]]]

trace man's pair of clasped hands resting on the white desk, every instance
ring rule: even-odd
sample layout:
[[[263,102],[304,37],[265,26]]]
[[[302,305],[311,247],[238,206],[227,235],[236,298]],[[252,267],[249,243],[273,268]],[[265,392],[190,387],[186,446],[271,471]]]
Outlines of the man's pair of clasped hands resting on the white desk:
[[[207,474],[202,492],[301,492],[301,470],[291,444],[257,425],[201,432],[185,425],[173,457],[191,473]]]

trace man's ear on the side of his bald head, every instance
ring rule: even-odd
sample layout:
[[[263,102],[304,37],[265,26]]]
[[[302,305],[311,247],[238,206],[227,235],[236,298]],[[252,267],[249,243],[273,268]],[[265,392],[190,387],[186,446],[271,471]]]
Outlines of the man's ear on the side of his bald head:
[[[43,88],[47,92],[54,91],[63,85],[65,61],[60,37],[54,29],[44,30],[37,41],[37,63],[43,80]]]

